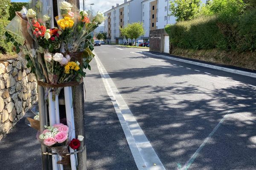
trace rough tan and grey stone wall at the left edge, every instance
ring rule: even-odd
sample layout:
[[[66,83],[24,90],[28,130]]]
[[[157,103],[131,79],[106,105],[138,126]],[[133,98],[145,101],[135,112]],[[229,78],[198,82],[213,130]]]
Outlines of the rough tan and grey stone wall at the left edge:
[[[37,101],[37,82],[23,59],[0,61],[0,140]]]

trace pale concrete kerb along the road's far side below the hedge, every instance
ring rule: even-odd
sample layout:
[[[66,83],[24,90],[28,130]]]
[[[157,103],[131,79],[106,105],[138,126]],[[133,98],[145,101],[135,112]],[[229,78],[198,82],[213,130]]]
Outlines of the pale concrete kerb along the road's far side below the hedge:
[[[202,67],[212,68],[212,69],[215,69],[215,70],[226,71],[226,72],[233,73],[233,74],[240,74],[240,75],[243,75],[243,76],[256,78],[256,73],[250,73],[250,72],[247,72],[247,71],[241,71],[241,70],[236,70],[236,69],[232,69],[232,68],[225,68],[225,67],[205,64],[205,63],[201,63],[201,62],[189,61],[189,60],[186,60],[186,59],[178,59],[178,58],[175,58],[175,57],[169,57],[169,56],[165,56],[165,55],[157,55],[157,54],[152,54],[150,52],[144,52],[143,51],[143,53],[153,55],[153,56],[156,56],[156,57],[165,58],[165,59],[172,59],[172,60],[179,61],[179,62],[186,62],[186,63],[193,64],[193,65],[199,65],[199,66],[202,66]]]

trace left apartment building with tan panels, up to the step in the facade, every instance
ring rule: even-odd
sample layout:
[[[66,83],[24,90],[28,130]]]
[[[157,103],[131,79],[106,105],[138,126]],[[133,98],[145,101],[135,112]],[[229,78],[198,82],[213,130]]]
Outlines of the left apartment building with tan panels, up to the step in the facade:
[[[105,32],[108,33],[108,40],[113,43],[122,44],[124,41],[120,33],[120,29],[128,23],[141,22],[141,2],[143,0],[124,0],[124,3],[115,6],[104,13],[107,17],[104,27]]]

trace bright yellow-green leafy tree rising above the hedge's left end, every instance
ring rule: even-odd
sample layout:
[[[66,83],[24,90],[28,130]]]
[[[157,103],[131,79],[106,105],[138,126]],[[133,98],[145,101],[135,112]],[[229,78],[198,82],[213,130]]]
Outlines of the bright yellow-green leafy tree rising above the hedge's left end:
[[[172,0],[170,15],[177,17],[177,21],[192,20],[199,14],[201,3],[201,0]]]

